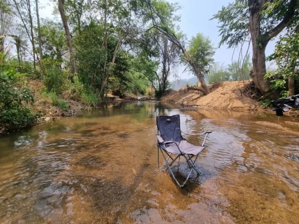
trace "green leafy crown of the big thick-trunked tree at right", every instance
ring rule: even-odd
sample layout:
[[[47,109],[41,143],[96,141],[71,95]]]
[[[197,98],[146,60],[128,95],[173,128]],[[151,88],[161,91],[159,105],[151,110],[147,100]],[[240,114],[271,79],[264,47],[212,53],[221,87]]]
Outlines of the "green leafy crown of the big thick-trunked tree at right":
[[[268,35],[267,32],[276,27],[283,18],[290,16],[288,9],[295,7],[295,10],[298,11],[299,8],[299,4],[296,3],[296,1],[292,1],[293,3],[295,2],[295,6],[291,5],[290,0],[263,2],[266,3],[263,3],[260,12],[258,11],[259,9],[256,8],[256,12],[260,14],[259,32],[261,33],[260,39],[257,40],[257,47],[266,43],[264,40]],[[260,1],[258,4],[260,4]],[[298,16],[298,13],[295,13],[295,17],[296,16]],[[249,41],[249,8],[247,0],[235,0],[233,3],[229,3],[228,6],[223,6],[212,19],[217,19],[220,23],[218,26],[219,35],[221,36],[219,47],[223,44],[228,44],[228,47],[235,47],[243,41]],[[292,20],[292,22],[295,21],[296,18]]]

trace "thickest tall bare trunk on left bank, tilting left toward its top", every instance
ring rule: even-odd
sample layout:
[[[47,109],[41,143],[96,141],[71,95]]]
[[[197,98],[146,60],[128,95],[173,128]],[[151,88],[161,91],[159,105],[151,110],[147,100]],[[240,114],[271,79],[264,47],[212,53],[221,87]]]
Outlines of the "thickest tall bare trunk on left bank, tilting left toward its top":
[[[74,51],[72,47],[72,42],[71,42],[71,35],[70,35],[70,30],[68,28],[68,21],[65,17],[65,11],[64,11],[64,0],[58,0],[58,10],[60,12],[64,32],[65,32],[65,38],[66,38],[66,45],[68,46],[68,52],[70,55],[70,73],[78,73],[77,72],[77,64],[75,61],[74,57]]]

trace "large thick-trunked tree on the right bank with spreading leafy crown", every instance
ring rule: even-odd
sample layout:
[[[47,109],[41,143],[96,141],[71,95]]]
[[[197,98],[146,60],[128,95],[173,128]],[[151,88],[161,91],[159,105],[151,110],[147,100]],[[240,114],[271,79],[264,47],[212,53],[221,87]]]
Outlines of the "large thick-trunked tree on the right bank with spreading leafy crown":
[[[228,47],[252,40],[251,77],[263,95],[276,98],[270,88],[266,74],[265,49],[271,39],[284,28],[298,19],[298,0],[235,0],[227,7],[222,7],[212,19],[218,19],[220,36],[219,45]]]

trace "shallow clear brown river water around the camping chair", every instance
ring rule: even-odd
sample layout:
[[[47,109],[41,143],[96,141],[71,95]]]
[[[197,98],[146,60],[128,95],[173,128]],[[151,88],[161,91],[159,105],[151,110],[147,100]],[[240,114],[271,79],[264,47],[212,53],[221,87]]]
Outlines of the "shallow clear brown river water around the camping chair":
[[[155,117],[174,114],[213,131],[183,189],[157,168]],[[299,223],[298,169],[299,119],[120,103],[2,136],[0,223]]]

